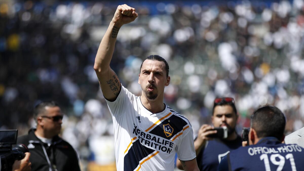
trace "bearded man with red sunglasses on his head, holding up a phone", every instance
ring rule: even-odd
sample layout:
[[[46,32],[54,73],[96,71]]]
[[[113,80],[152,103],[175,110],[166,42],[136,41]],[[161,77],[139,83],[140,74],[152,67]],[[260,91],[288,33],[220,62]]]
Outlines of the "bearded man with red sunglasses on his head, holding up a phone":
[[[242,138],[236,133],[237,109],[234,99],[230,97],[216,98],[212,112],[212,124],[204,124],[199,129],[197,138],[194,141],[196,160],[200,170],[216,170],[220,160],[231,150],[242,146]],[[210,138],[215,134],[214,127],[228,128],[227,138]],[[177,161],[177,167],[182,169],[181,162]]]

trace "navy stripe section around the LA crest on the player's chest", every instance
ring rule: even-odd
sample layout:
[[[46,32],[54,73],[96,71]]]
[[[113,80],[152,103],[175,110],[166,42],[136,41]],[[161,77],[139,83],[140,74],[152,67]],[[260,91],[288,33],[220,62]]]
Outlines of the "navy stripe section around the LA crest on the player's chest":
[[[163,125],[166,125],[166,124],[169,124],[173,128],[172,135],[169,137],[167,137],[166,134],[164,133]],[[169,117],[169,118],[165,119],[163,122],[161,122],[161,124],[157,125],[149,133],[160,136],[162,138],[166,138],[169,140],[172,137],[174,137],[175,134],[177,134],[178,132],[183,130],[183,127],[186,125],[187,125],[187,122],[185,120],[183,120],[182,118],[173,114],[173,115],[171,115],[171,117]]]

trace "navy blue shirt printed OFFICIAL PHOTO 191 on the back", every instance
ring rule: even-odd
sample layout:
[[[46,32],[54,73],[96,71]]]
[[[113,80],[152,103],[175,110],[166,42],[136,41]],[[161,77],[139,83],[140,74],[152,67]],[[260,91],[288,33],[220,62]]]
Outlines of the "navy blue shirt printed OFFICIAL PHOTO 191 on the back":
[[[261,139],[256,145],[238,148],[223,158],[219,171],[256,171],[304,169],[304,148],[283,144],[275,137]]]

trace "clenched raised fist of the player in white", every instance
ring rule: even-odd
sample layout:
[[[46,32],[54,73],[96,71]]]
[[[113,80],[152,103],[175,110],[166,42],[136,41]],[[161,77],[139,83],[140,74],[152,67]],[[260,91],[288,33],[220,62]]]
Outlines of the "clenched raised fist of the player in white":
[[[126,4],[118,5],[112,22],[121,27],[124,24],[130,23],[136,19],[138,14],[135,12],[135,8],[132,8]]]

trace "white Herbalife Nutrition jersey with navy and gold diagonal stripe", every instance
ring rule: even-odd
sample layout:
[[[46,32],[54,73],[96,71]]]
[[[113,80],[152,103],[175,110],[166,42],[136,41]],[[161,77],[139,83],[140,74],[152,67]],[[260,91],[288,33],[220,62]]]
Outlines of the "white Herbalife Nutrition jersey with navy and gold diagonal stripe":
[[[114,102],[106,102],[113,118],[118,171],[171,171],[175,152],[184,161],[196,157],[191,124],[168,105],[161,113],[151,113],[140,96],[123,86]]]

